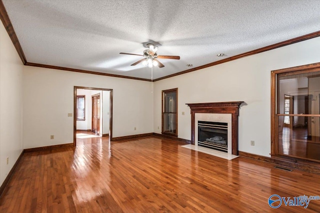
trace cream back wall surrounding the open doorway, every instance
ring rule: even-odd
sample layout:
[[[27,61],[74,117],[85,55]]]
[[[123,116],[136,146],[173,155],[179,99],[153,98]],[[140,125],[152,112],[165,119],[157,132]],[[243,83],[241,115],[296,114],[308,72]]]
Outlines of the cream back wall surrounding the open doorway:
[[[153,132],[150,82],[24,66],[24,149],[72,143],[73,86],[113,89],[113,137]]]

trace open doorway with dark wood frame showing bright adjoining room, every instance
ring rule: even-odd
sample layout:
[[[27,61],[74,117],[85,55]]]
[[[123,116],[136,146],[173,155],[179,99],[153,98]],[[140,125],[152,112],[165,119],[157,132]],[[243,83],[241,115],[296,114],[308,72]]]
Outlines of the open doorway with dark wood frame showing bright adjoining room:
[[[77,131],[82,135],[91,135],[90,137],[108,136],[108,141],[112,140],[112,97],[112,89],[74,86],[74,146],[77,145]],[[83,113],[78,115],[78,112],[82,111]]]

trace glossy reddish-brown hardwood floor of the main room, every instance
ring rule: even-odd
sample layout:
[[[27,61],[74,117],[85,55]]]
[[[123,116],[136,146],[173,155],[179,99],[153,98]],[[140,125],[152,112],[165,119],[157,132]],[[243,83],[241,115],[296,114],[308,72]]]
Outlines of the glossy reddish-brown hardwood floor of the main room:
[[[92,139],[94,140],[94,139]],[[1,213],[274,212],[268,198],[320,196],[320,176],[238,157],[231,161],[159,137],[24,153]],[[276,212],[320,212],[282,205]]]

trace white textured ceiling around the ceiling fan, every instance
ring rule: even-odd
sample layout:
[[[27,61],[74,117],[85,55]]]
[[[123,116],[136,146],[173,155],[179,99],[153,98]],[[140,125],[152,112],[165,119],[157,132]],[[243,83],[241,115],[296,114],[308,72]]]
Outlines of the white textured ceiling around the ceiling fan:
[[[320,30],[320,0],[2,0],[27,62],[153,79]],[[217,57],[216,54],[225,56]]]

